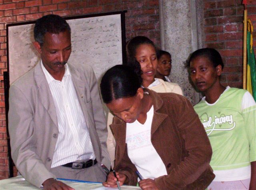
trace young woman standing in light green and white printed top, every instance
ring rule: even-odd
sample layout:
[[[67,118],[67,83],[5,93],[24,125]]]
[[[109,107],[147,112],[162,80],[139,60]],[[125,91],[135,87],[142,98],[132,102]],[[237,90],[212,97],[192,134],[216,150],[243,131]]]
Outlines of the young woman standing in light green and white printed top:
[[[189,59],[190,78],[204,94],[194,106],[212,145],[210,165],[216,177],[208,187],[256,189],[256,103],[242,89],[224,87],[218,51],[196,50]]]

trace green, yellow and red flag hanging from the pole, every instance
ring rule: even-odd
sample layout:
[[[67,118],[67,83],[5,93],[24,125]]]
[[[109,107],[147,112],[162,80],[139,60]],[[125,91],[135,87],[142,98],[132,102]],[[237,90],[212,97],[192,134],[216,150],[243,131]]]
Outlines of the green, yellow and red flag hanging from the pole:
[[[254,50],[252,46],[252,32],[253,26],[248,19],[248,30],[247,30],[247,87],[246,89],[252,94],[256,101],[256,61]]]

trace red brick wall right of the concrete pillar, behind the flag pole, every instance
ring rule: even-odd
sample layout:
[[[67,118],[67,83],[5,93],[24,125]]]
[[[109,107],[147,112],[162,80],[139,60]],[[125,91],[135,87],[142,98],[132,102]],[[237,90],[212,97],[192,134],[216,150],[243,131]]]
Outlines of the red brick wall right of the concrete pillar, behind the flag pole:
[[[255,49],[256,0],[247,2]],[[205,46],[216,48],[223,58],[222,83],[237,88],[242,88],[243,13],[242,0],[204,0]]]

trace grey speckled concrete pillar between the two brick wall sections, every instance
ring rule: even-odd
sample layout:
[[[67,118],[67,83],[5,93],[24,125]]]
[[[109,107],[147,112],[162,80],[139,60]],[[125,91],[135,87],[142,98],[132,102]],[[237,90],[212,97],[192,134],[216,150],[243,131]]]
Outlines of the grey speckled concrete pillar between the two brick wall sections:
[[[178,83],[192,102],[200,100],[189,81],[186,60],[202,48],[202,0],[159,0],[161,48],[172,55],[172,82]]]

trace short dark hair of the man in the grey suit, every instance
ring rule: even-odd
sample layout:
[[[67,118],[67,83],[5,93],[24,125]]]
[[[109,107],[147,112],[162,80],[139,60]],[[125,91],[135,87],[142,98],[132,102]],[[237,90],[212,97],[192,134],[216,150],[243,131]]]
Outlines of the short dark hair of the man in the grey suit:
[[[71,33],[70,26],[64,18],[56,14],[48,14],[39,18],[34,27],[34,38],[42,46],[44,44],[44,35],[46,32],[59,34],[68,30]]]

